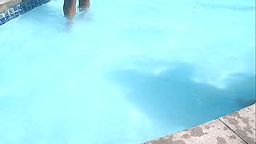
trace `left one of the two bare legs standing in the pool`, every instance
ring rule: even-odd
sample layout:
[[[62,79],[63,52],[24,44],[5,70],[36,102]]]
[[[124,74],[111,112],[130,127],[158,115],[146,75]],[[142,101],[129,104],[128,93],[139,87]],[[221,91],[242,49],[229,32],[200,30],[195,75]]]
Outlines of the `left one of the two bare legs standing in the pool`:
[[[71,16],[76,13],[76,0],[64,0],[63,11],[65,16]]]

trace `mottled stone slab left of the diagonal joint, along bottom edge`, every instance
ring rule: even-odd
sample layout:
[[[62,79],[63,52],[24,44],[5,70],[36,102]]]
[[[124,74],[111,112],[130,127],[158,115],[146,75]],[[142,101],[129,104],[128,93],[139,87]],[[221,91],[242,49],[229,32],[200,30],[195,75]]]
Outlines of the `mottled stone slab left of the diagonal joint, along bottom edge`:
[[[246,143],[218,120],[207,122],[189,130],[158,138],[144,144],[208,144]]]

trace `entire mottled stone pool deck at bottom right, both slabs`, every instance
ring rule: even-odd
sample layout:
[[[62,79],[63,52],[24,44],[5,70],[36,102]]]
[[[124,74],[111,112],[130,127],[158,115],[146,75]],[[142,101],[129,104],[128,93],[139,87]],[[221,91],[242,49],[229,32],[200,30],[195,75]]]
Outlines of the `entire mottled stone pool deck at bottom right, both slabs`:
[[[233,114],[143,144],[256,143],[255,103]]]

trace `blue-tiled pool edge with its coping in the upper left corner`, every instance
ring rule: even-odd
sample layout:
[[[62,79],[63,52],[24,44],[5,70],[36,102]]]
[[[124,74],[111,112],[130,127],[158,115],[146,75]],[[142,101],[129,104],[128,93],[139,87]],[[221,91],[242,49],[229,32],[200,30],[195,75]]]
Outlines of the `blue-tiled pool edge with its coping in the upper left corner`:
[[[3,0],[0,2],[0,26],[50,0]]]

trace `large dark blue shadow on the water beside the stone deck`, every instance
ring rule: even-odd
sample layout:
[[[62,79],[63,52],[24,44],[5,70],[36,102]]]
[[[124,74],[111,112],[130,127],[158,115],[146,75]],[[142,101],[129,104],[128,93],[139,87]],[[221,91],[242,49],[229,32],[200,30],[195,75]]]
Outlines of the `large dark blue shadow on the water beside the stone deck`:
[[[255,76],[234,74],[218,89],[191,79],[193,66],[180,63],[161,74],[114,71],[110,79],[129,90],[126,99],[164,125],[195,126],[255,102]]]

